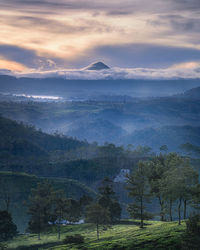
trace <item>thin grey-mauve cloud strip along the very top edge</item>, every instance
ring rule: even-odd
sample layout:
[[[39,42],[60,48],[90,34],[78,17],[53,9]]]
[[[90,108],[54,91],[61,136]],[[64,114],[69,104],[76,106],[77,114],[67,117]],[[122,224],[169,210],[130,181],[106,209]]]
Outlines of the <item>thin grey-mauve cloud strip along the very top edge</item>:
[[[4,8],[15,7],[24,10],[32,7],[37,10],[95,10],[113,14],[120,11],[124,14],[130,12],[162,12],[171,10],[197,10],[200,8],[199,0],[1,0]],[[120,10],[120,11],[119,11]]]

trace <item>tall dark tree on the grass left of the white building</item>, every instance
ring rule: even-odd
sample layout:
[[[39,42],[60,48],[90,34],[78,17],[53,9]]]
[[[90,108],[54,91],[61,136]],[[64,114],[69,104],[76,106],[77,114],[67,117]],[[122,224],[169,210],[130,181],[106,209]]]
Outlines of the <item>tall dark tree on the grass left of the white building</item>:
[[[39,240],[41,232],[48,227],[48,221],[51,220],[54,197],[54,190],[49,182],[39,183],[32,189],[29,197],[28,213],[31,218],[28,229],[37,233]]]

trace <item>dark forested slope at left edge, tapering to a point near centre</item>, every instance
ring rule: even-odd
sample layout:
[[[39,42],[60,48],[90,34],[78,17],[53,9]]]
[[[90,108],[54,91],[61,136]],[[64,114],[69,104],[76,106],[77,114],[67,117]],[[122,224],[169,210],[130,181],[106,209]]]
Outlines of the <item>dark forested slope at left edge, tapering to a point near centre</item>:
[[[49,135],[0,116],[0,168],[49,162],[53,152],[71,152],[88,143],[61,135]]]

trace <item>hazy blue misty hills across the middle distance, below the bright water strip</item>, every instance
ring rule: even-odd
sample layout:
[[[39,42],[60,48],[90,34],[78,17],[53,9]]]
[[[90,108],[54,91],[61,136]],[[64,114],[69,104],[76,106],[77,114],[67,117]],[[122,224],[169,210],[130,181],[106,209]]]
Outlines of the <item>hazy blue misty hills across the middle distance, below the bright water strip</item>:
[[[195,127],[200,126],[200,100],[183,96],[63,103],[0,102],[0,111],[8,118],[33,124],[47,133],[57,130],[90,143],[149,145],[156,151],[160,144],[178,150],[180,144],[194,143]]]

